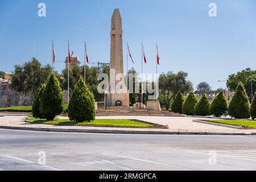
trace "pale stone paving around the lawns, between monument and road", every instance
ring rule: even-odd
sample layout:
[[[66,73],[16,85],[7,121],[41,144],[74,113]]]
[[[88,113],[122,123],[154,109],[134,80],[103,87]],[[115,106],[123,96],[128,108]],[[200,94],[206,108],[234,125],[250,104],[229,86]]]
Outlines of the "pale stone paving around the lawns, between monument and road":
[[[67,118],[67,117],[59,117]],[[38,129],[87,129],[87,130],[116,130],[116,131],[168,131],[168,132],[188,132],[188,133],[255,133],[256,129],[232,129],[223,126],[208,125],[205,123],[192,122],[197,117],[151,117],[151,116],[108,116],[96,117],[97,119],[140,119],[142,121],[168,125],[169,129],[136,129],[120,127],[94,127],[94,126],[59,126],[45,124],[31,124],[24,120],[26,116],[4,116],[0,117],[0,127],[29,127]]]

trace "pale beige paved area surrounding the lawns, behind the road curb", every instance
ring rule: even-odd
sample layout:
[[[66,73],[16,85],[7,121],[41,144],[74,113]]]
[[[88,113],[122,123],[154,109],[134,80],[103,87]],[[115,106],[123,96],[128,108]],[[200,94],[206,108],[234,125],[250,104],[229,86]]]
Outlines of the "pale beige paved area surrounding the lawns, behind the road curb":
[[[0,128],[40,131],[63,131],[84,133],[124,133],[124,134],[256,134],[256,129],[232,129],[223,126],[192,122],[196,117],[151,117],[151,116],[108,116],[97,119],[140,119],[142,121],[168,125],[169,129],[132,129],[120,127],[59,126],[24,122],[26,116],[0,117]],[[67,118],[67,117],[59,117]]]

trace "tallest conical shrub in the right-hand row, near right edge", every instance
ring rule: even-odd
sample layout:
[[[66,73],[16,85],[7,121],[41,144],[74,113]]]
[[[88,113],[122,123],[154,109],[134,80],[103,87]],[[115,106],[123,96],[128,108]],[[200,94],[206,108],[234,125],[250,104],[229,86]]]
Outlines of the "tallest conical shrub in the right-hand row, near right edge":
[[[250,118],[250,102],[242,82],[237,85],[236,92],[230,101],[229,115],[238,119]]]

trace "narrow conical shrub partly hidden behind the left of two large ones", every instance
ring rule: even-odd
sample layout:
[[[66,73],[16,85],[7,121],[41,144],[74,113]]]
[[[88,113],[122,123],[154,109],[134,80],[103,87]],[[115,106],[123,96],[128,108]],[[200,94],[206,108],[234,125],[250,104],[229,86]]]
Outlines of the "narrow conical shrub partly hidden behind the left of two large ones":
[[[42,97],[42,93],[46,88],[45,84],[41,84],[36,92],[36,96],[32,103],[32,115],[34,118],[42,118],[42,114],[40,113],[40,99]]]

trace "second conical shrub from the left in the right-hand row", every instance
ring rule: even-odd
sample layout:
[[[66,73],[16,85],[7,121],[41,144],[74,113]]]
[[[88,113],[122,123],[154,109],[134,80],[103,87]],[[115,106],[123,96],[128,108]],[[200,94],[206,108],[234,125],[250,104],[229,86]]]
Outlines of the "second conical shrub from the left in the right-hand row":
[[[185,98],[185,101],[182,105],[182,113],[187,115],[195,115],[195,106],[197,104],[197,98],[195,94],[191,91],[188,94],[188,97]]]

